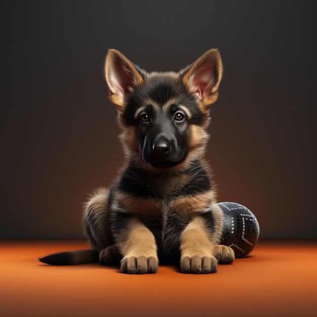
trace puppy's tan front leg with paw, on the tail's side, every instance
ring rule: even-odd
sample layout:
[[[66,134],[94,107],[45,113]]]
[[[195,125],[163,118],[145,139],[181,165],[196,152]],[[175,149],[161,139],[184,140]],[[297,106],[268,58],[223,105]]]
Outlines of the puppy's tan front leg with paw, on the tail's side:
[[[153,233],[139,220],[127,223],[117,245],[121,254],[121,272],[129,274],[155,273],[159,265]]]

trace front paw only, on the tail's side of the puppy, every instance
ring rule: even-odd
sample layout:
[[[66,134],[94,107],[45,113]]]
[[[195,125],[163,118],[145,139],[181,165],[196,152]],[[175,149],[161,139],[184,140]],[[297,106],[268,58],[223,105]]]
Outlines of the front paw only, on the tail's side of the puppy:
[[[127,274],[156,273],[158,267],[159,260],[155,257],[130,256],[122,259],[120,271]]]

